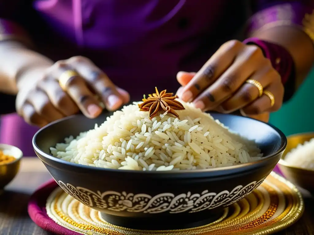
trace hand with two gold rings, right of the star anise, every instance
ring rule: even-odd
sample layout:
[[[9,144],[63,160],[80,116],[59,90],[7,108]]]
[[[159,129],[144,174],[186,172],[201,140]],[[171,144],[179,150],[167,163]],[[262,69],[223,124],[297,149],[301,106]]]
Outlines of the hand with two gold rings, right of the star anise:
[[[248,79],[273,94],[273,106],[270,97],[259,96],[259,89],[247,83]],[[182,86],[178,96],[203,111],[230,113],[240,109],[242,115],[263,121],[281,107],[284,97],[280,75],[262,50],[236,40],[223,44],[197,73],[179,72],[177,80]]]

